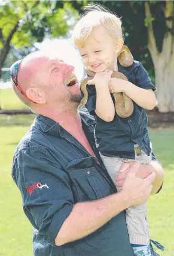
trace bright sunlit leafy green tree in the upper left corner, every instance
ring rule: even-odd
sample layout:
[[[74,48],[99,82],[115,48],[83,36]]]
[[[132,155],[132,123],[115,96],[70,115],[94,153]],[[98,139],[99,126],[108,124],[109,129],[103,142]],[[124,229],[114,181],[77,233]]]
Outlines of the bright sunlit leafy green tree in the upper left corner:
[[[68,33],[77,11],[64,1],[9,1],[0,3],[0,78],[10,50],[41,42],[45,36],[60,37]]]

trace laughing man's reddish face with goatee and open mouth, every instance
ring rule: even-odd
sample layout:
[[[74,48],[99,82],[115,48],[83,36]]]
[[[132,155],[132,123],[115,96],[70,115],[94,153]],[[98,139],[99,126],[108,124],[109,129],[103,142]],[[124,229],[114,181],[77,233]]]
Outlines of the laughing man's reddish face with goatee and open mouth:
[[[48,58],[43,67],[43,84],[47,92],[47,101],[81,101],[80,86],[74,74],[74,67],[57,58]]]

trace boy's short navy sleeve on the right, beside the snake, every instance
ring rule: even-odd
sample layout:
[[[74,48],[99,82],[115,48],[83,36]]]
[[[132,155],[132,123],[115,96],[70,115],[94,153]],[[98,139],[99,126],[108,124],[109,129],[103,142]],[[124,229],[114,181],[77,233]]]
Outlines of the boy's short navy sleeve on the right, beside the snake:
[[[143,89],[152,89],[153,91],[156,90],[156,87],[151,82],[147,71],[143,67],[142,63],[138,61],[138,65],[134,70],[135,74],[135,84],[136,86],[143,88]]]

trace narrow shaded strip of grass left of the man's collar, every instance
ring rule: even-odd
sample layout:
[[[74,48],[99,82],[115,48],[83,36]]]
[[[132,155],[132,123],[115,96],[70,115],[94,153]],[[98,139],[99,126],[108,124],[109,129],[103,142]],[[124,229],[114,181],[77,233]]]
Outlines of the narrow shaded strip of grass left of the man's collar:
[[[30,126],[35,119],[35,114],[26,115],[0,115],[0,127],[2,126]]]

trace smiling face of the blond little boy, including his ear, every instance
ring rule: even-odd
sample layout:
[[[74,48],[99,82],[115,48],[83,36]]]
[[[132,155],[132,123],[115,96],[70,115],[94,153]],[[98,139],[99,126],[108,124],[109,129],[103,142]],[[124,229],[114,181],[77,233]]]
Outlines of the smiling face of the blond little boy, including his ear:
[[[87,69],[102,72],[105,69],[113,69],[117,63],[117,54],[122,45],[122,39],[117,42],[100,25],[92,30],[84,47],[78,47],[78,50]]]

